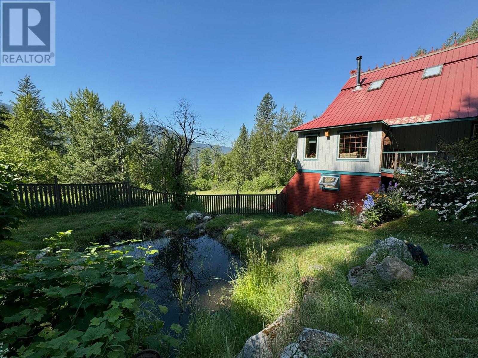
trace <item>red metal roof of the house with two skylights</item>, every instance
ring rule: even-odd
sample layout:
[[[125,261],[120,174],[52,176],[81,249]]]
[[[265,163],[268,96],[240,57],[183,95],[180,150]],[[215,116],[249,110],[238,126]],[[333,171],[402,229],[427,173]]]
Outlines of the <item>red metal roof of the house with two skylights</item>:
[[[444,64],[439,76],[422,79],[424,69]],[[378,90],[367,91],[385,78]],[[478,41],[420,55],[362,72],[362,89],[348,79],[326,111],[291,132],[383,121],[388,125],[478,116]]]

